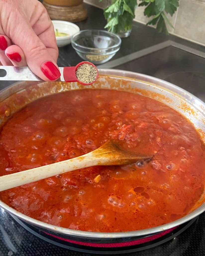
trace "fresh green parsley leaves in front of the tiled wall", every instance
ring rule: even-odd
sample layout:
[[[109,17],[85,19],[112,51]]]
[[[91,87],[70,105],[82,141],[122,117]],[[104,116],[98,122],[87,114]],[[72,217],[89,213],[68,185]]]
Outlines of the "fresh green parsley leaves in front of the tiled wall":
[[[102,0],[99,0],[100,2]],[[171,16],[175,13],[179,6],[179,0],[139,0],[138,6],[146,6],[144,15],[152,17],[147,25],[157,25],[158,32],[169,34],[165,21],[171,26],[166,14]],[[105,28],[113,33],[130,30],[132,20],[135,17],[134,10],[137,7],[136,0],[112,0],[110,6],[104,9],[104,16],[107,20]]]

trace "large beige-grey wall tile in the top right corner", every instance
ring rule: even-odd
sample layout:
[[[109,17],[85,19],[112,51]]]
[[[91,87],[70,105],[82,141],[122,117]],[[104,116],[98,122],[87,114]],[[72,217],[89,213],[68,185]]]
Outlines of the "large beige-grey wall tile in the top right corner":
[[[205,2],[181,0],[174,34],[205,44]]]

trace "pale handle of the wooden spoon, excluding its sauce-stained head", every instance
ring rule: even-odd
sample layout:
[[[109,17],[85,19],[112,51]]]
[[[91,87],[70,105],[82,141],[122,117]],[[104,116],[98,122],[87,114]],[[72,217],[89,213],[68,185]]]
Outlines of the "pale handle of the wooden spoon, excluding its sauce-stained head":
[[[89,152],[83,156],[78,156],[62,162],[4,175],[0,177],[0,191],[49,178],[58,174],[71,172],[76,169],[94,166],[98,163],[99,159],[94,157],[93,152]]]

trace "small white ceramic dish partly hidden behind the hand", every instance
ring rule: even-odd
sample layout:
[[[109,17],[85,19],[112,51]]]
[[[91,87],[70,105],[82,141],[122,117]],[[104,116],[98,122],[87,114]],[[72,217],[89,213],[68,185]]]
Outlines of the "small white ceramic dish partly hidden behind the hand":
[[[64,21],[64,20],[52,20],[54,29],[58,29],[60,33],[69,34],[68,36],[56,36],[57,46],[62,47],[69,45],[71,42],[71,37],[80,31],[80,28],[74,23]]]

